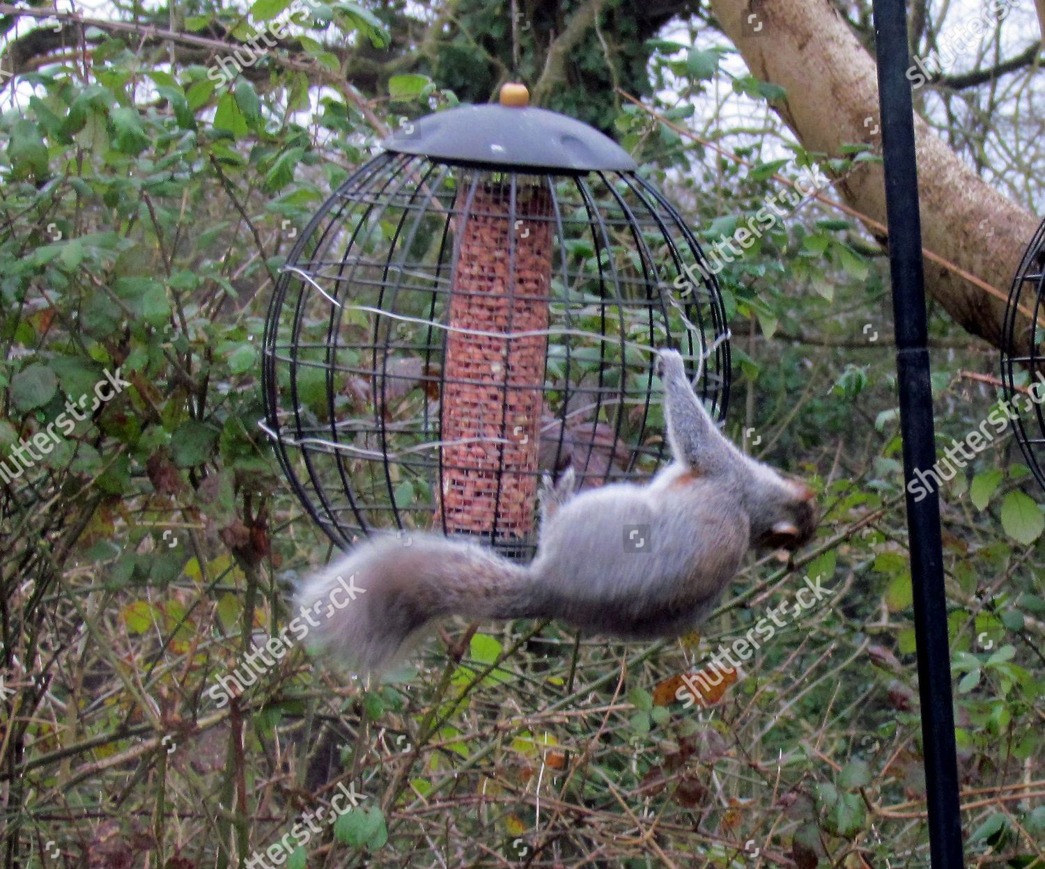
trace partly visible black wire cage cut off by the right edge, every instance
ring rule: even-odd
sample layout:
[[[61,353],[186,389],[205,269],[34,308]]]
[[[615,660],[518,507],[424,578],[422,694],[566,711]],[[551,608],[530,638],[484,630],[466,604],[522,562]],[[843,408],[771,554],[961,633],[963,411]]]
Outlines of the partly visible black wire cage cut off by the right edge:
[[[1016,441],[1045,489],[1045,416],[1041,400],[1017,400],[1025,384],[1045,397],[1045,220],[1027,245],[1008,291],[1001,379]],[[1040,383],[1040,385],[1038,385]]]

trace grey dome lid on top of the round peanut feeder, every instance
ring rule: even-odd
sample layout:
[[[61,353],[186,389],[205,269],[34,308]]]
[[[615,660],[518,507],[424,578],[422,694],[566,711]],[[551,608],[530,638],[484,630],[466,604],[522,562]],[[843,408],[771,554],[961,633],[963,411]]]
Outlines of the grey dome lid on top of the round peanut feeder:
[[[404,123],[386,150],[504,169],[633,171],[635,161],[595,127],[532,107],[461,105]]]

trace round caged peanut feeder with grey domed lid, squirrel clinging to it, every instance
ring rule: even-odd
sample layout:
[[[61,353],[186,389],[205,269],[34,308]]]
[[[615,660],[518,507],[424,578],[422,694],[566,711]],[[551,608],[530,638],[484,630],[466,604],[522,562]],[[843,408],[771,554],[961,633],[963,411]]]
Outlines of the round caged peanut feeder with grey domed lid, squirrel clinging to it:
[[[343,548],[433,529],[529,558],[542,474],[600,486],[666,457],[654,348],[695,366],[718,340],[698,390],[724,415],[718,284],[675,208],[579,121],[461,107],[382,144],[280,276],[261,425]]]

